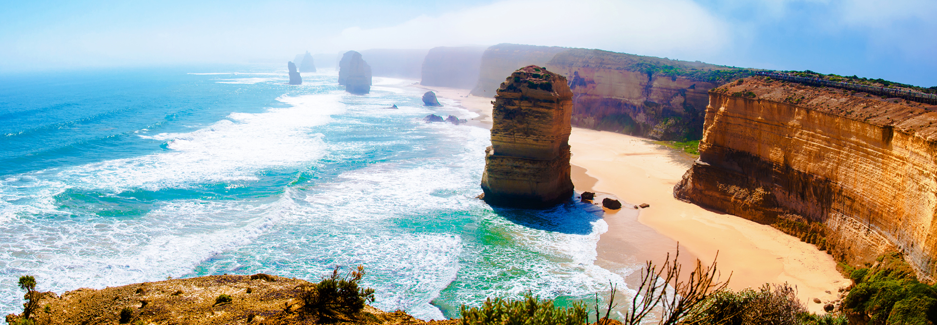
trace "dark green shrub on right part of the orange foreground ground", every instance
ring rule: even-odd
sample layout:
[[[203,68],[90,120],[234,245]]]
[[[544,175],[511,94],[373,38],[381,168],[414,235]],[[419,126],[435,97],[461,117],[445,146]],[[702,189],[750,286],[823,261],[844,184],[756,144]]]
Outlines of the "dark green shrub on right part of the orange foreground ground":
[[[364,309],[364,303],[374,302],[373,288],[359,288],[364,277],[364,266],[359,265],[344,277],[338,275],[338,267],[332,276],[322,278],[317,284],[301,287],[300,299],[303,315],[312,315],[323,320],[353,317]]]

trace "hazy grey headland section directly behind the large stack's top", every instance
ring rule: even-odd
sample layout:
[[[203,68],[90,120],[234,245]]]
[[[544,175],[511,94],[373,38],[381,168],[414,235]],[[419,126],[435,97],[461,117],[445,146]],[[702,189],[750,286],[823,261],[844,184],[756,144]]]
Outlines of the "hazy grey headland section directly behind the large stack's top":
[[[535,46],[502,43],[491,46],[482,54],[478,81],[473,85],[471,95],[493,97],[504,81],[504,76],[511,74],[521,66],[546,66],[558,52],[568,50],[558,46]]]

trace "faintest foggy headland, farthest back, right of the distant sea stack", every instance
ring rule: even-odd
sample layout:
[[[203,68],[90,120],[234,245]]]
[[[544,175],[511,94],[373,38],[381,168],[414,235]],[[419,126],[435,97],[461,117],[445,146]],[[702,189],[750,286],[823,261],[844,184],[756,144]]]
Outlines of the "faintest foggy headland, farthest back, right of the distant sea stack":
[[[375,77],[391,77],[419,80],[423,60],[429,50],[371,49],[361,55],[367,58]]]

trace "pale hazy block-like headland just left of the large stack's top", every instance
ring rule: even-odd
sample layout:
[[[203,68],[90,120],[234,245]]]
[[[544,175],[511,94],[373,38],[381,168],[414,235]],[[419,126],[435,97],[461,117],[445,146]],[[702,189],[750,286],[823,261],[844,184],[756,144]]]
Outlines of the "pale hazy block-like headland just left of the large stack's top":
[[[420,84],[465,89],[475,86],[484,49],[472,46],[430,49],[423,61]]]

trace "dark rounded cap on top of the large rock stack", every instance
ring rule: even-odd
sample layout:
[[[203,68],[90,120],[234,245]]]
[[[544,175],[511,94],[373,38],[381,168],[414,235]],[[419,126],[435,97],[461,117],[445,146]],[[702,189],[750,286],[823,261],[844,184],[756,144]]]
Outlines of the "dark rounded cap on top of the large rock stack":
[[[573,91],[566,84],[566,77],[547,71],[541,66],[524,66],[515,70],[498,88],[495,98],[506,94],[528,96],[537,99],[551,97],[572,98]],[[511,97],[516,97],[511,96]]]

